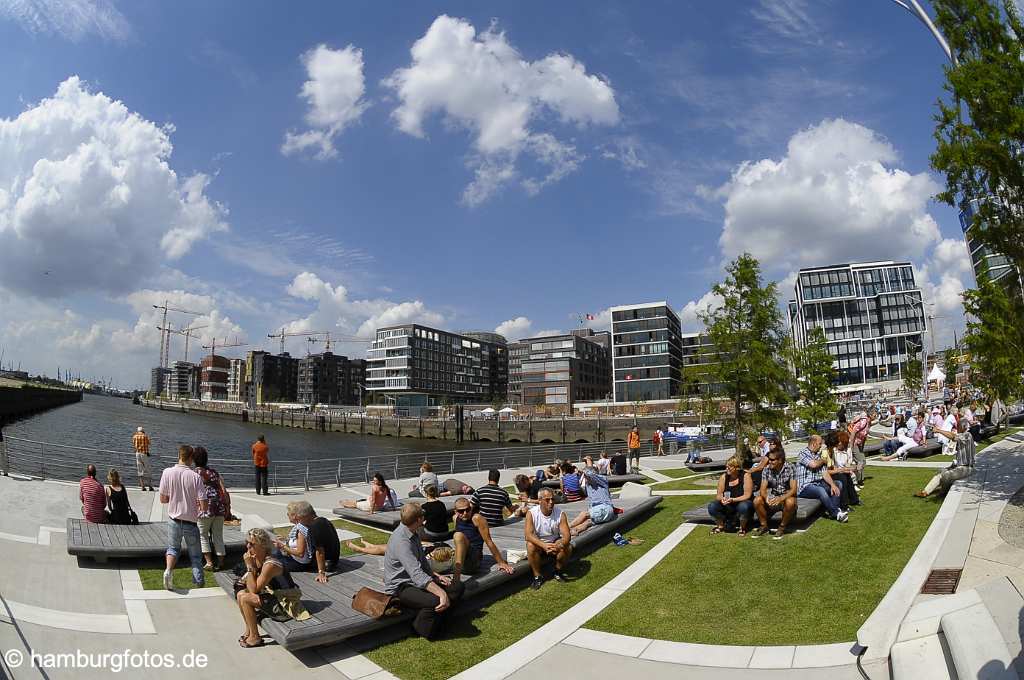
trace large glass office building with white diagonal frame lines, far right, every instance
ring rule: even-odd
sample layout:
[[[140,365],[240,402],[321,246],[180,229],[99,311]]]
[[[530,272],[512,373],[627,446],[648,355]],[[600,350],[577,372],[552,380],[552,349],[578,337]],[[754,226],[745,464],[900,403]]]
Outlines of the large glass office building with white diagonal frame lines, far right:
[[[927,331],[921,289],[909,262],[859,262],[801,269],[790,301],[798,345],[824,330],[838,385],[902,380]]]

